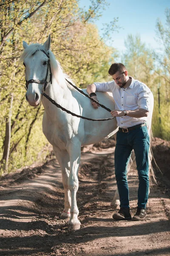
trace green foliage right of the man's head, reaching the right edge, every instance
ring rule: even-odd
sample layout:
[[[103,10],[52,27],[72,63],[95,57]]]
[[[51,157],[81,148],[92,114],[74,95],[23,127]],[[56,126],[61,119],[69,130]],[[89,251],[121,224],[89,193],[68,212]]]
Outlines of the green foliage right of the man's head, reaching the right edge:
[[[147,84],[153,92],[153,135],[170,140],[170,9],[165,15],[165,27],[160,20],[156,23],[159,51],[147,49],[139,35],[128,35],[122,62],[134,79]]]

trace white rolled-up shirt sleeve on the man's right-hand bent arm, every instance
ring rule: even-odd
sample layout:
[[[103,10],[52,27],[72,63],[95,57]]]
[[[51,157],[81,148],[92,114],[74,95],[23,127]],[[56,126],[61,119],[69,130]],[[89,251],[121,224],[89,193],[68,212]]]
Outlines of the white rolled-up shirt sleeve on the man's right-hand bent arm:
[[[139,108],[146,109],[148,112],[150,111],[150,93],[150,89],[147,86],[145,86],[145,84],[139,87]]]

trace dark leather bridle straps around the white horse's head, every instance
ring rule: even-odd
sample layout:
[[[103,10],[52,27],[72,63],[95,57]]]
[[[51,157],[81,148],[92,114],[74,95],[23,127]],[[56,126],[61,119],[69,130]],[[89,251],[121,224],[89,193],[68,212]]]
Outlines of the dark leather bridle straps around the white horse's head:
[[[37,52],[37,51],[35,51],[35,52]],[[52,84],[52,72],[51,72],[49,52],[46,53],[43,49],[40,49],[40,51],[44,52],[45,55],[48,57],[47,73],[46,73],[45,80],[39,80],[39,79],[36,79],[36,80],[35,79],[30,79],[28,81],[26,80],[26,90],[28,90],[28,84],[30,84],[30,83],[43,84],[43,90],[44,91],[47,87],[47,84],[49,84],[49,82]],[[34,53],[33,53],[33,55],[34,55]],[[50,80],[49,81],[47,81],[47,79],[48,79],[48,70],[50,70]]]

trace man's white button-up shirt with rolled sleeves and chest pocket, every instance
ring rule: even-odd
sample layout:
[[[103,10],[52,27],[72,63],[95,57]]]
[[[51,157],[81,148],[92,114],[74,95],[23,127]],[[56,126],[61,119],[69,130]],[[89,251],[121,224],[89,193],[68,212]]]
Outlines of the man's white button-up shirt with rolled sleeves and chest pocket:
[[[115,109],[123,110],[136,110],[139,108],[150,111],[150,89],[146,84],[138,80],[132,79],[130,86],[127,89],[119,87],[115,81],[109,81],[104,83],[95,82],[96,91],[112,92],[113,99],[115,101]],[[130,117],[130,116],[118,116],[116,117],[117,125],[120,128],[128,128],[134,125],[142,124],[146,122],[147,117]]]

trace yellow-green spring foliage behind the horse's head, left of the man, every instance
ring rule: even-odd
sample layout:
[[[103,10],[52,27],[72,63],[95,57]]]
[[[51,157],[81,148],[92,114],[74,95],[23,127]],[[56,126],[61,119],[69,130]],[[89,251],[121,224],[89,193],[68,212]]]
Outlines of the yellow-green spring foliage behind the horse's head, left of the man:
[[[22,40],[43,43],[51,35],[51,50],[65,73],[80,87],[105,80],[114,49],[105,44],[92,23],[101,15],[105,0],[92,0],[87,12],[77,0],[2,0],[0,2],[0,159],[3,151],[11,94],[11,143],[8,172],[29,165],[47,144],[42,134],[42,106],[25,100],[24,67],[19,63]],[[116,20],[112,29],[116,28]],[[107,34],[107,31],[106,31]]]

